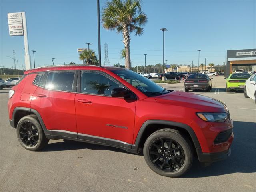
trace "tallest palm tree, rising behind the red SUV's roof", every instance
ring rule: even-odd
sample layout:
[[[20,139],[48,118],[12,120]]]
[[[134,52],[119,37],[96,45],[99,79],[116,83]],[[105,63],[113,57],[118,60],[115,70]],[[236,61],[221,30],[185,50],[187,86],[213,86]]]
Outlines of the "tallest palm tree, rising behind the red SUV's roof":
[[[141,10],[141,0],[111,0],[103,9],[103,27],[123,34],[127,69],[131,68],[130,34],[142,35],[144,29],[140,26],[145,25],[147,20],[147,15]]]

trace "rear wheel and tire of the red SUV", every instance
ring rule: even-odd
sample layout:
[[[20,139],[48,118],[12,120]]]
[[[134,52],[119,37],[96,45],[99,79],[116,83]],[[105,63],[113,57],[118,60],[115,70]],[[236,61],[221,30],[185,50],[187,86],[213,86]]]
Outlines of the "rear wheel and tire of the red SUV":
[[[49,142],[36,115],[21,118],[17,124],[16,132],[21,146],[30,151],[38,151]]]

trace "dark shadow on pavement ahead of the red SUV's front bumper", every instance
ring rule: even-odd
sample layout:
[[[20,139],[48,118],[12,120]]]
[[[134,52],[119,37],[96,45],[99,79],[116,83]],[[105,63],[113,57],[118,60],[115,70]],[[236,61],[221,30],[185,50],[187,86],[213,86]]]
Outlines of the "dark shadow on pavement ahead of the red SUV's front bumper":
[[[195,158],[191,169],[182,178],[199,178],[232,173],[256,172],[256,123],[234,121],[234,141],[226,160],[202,167]]]

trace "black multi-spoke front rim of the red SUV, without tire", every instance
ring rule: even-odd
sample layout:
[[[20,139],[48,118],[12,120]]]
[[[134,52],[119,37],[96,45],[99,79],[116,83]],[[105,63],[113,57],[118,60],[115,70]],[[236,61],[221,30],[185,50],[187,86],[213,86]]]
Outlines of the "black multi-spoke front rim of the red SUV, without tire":
[[[156,168],[174,172],[184,163],[185,154],[180,144],[170,138],[155,140],[150,146],[150,160]]]

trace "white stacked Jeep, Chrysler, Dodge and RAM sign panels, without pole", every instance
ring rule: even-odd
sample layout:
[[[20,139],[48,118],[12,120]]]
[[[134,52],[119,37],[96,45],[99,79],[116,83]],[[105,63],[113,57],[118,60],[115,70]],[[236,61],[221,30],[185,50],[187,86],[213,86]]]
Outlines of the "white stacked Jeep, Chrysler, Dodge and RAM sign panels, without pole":
[[[10,36],[24,35],[22,13],[8,13],[8,28]]]

